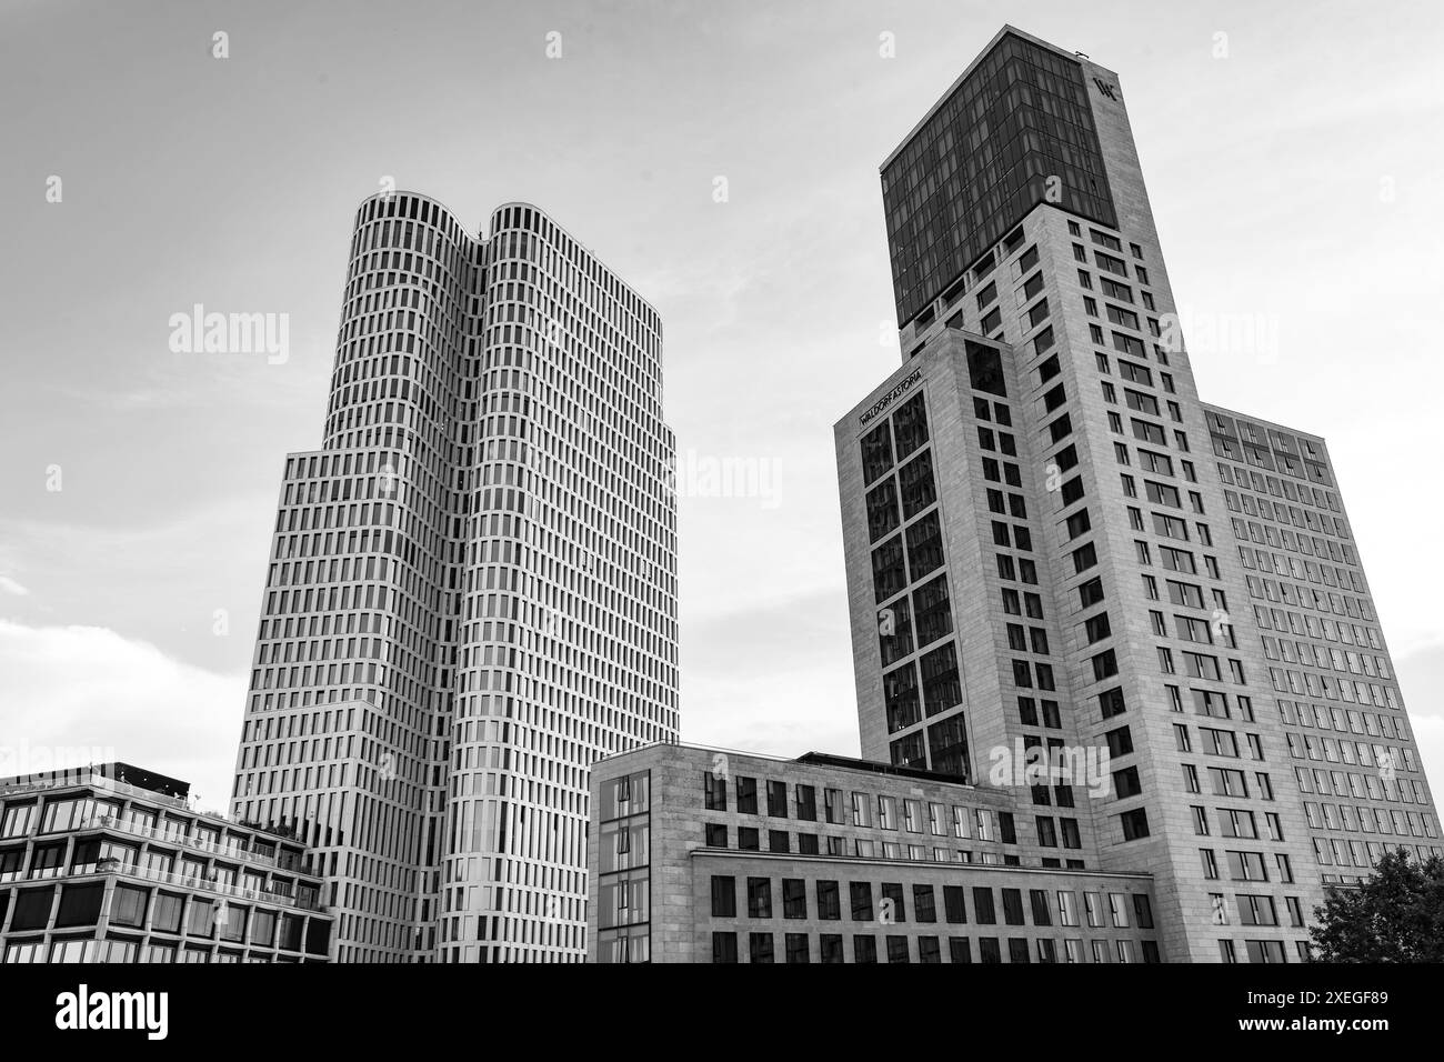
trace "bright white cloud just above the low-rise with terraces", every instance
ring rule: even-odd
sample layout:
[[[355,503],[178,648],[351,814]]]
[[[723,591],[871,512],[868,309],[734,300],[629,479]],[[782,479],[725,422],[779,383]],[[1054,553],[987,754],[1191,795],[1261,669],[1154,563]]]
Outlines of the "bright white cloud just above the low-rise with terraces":
[[[225,809],[244,675],[218,675],[104,627],[0,620],[3,773],[116,759],[191,782]]]

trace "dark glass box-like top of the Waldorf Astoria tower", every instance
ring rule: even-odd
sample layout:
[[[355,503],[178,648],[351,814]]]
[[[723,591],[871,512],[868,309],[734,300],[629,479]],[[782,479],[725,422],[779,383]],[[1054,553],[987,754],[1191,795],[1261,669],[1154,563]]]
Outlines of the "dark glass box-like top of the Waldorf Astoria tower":
[[[882,163],[898,325],[1040,202],[1118,227],[1083,68],[1008,27]]]

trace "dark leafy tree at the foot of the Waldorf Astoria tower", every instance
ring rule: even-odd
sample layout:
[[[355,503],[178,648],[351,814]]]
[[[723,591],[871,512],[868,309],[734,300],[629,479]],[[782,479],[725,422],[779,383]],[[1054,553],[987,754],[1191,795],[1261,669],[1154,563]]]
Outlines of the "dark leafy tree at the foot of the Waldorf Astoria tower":
[[[1315,962],[1444,962],[1444,860],[1385,852],[1362,886],[1330,890],[1314,919]]]

